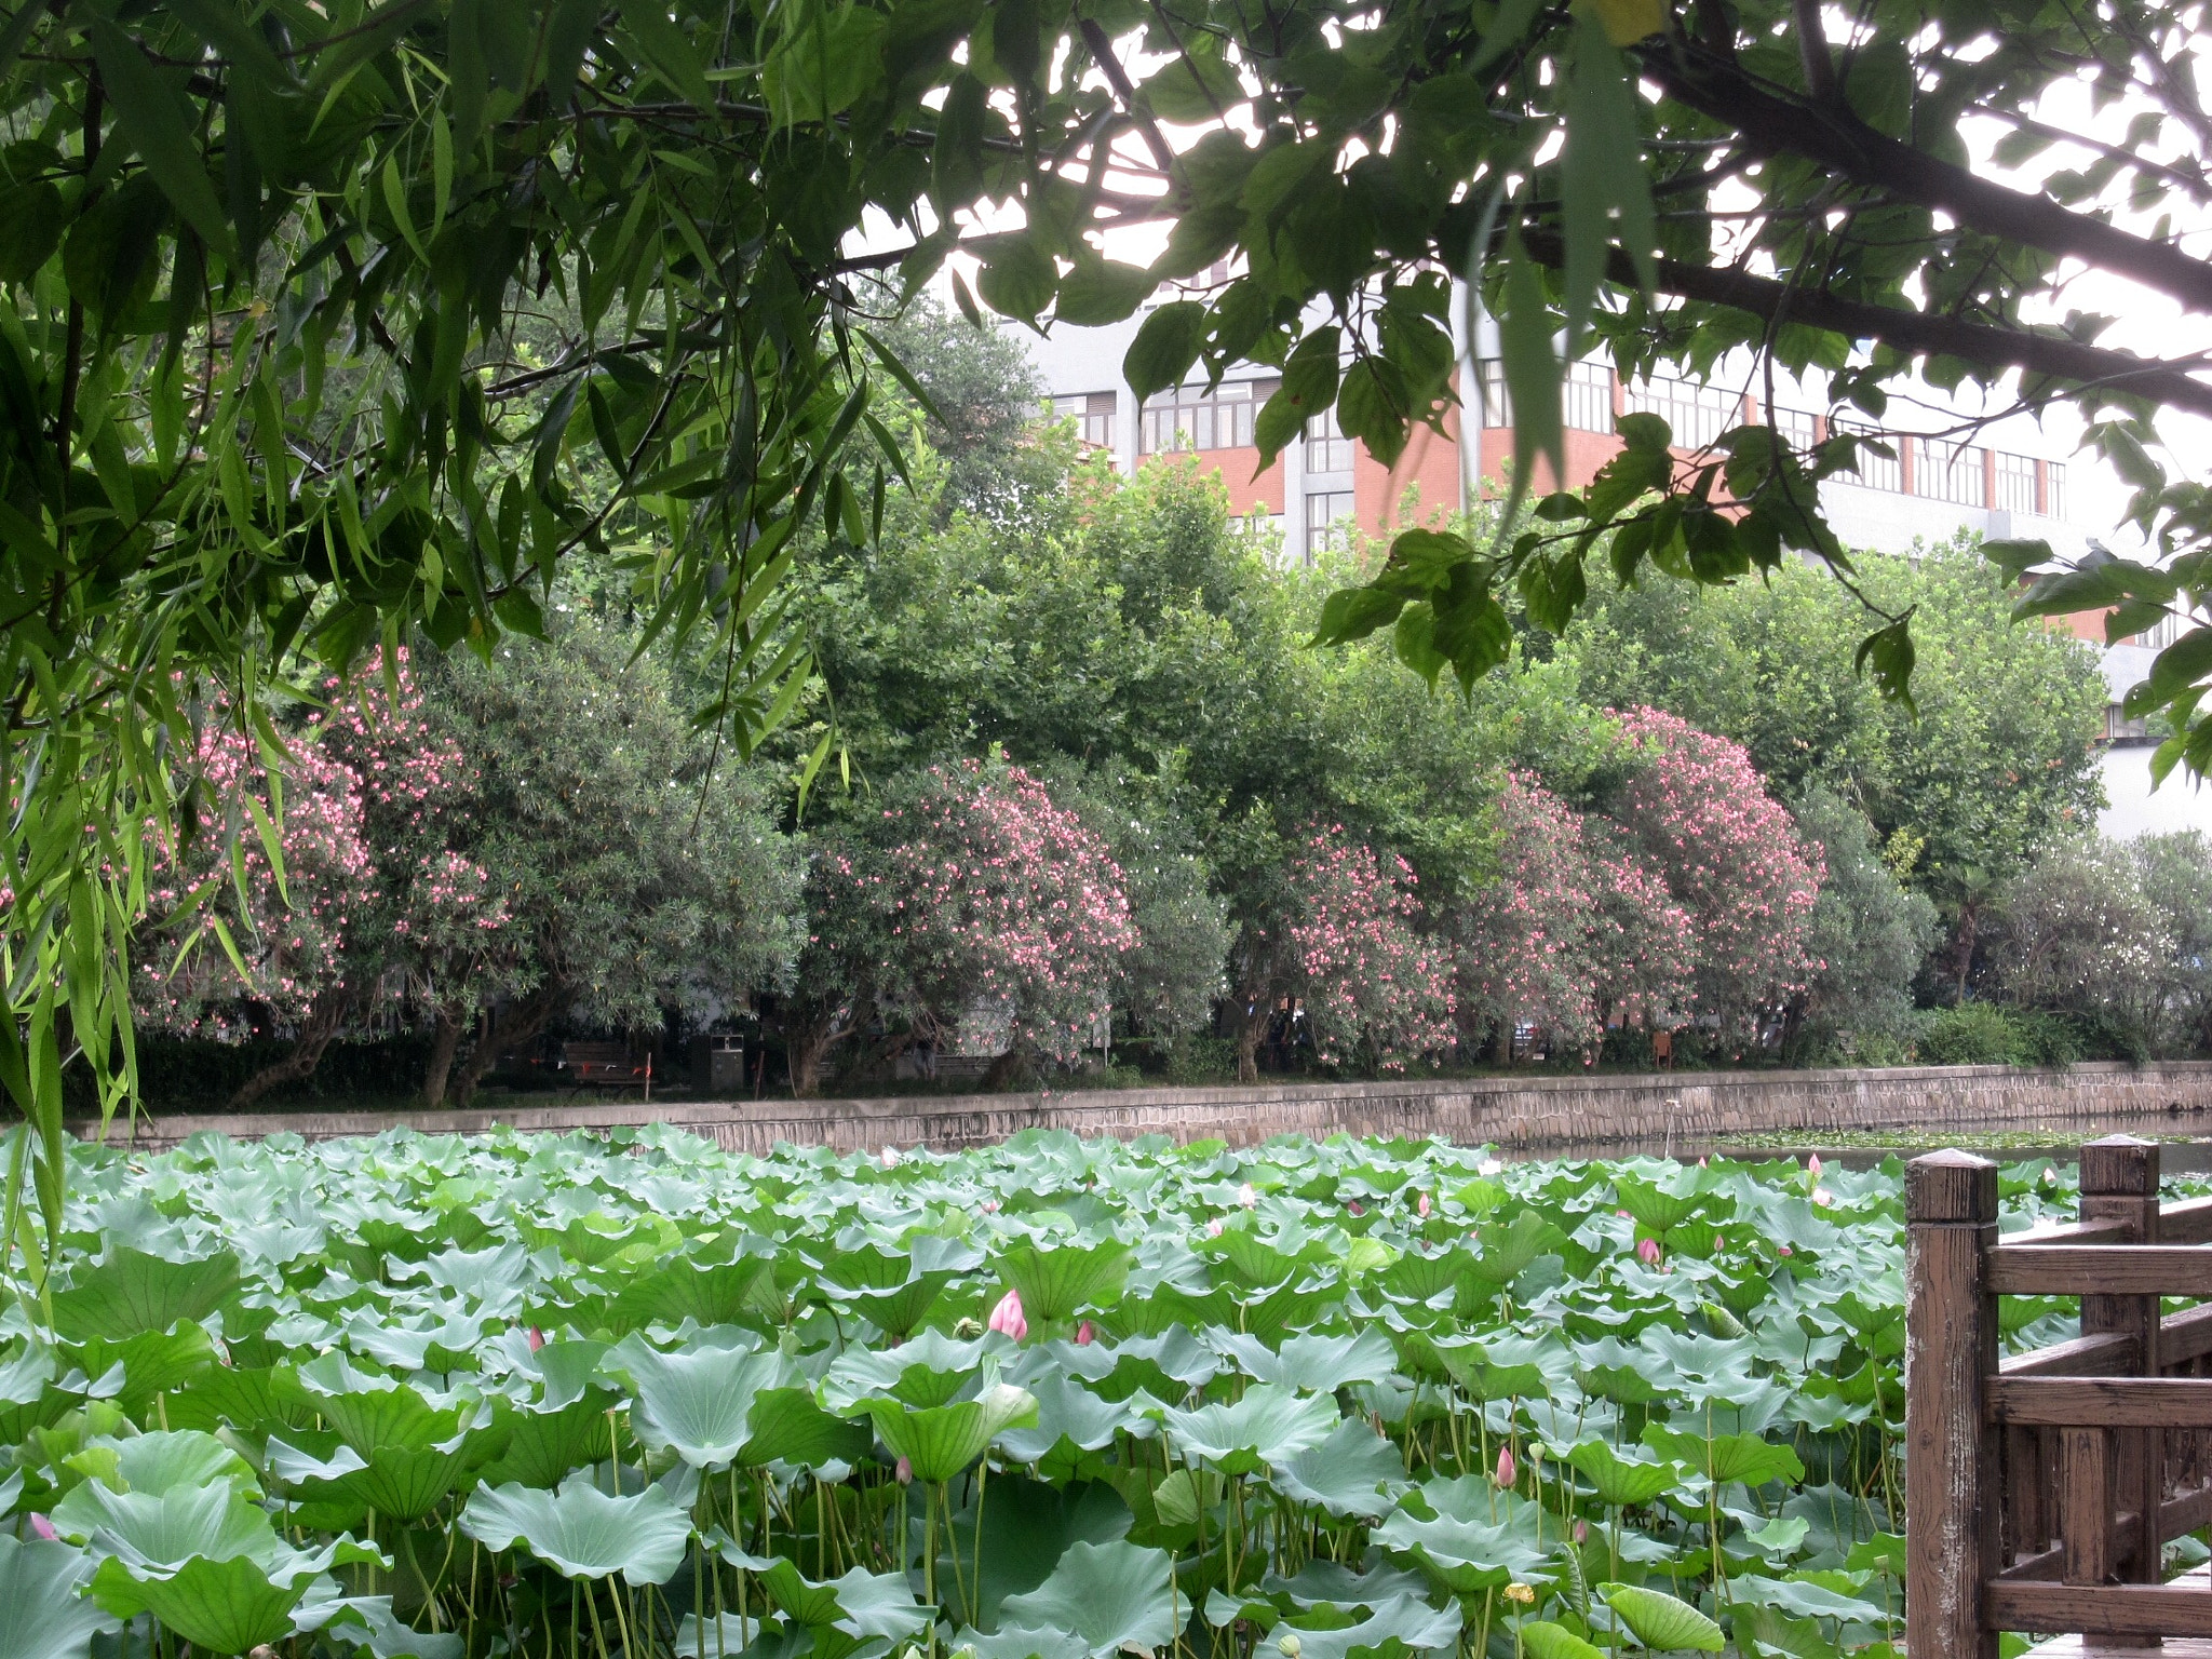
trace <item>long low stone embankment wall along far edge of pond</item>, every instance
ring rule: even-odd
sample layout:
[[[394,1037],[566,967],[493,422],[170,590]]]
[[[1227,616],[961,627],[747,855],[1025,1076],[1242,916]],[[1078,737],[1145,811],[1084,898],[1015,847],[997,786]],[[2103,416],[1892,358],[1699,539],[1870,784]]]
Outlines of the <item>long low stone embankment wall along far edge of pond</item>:
[[[1093,1088],[1033,1095],[905,1095],[889,1099],[580,1102],[484,1106],[462,1113],[250,1113],[157,1117],[113,1139],[175,1146],[219,1130],[237,1139],[374,1135],[405,1124],[429,1135],[599,1130],[675,1124],[737,1152],[779,1141],[860,1150],[987,1146],[1024,1128],[1075,1135],[1221,1137],[1444,1135],[1511,1150],[1604,1148],[1626,1141],[1725,1141],[1732,1135],[1836,1130],[1951,1133],[2070,1128],[2212,1108],[2212,1062],[2066,1068],[1896,1066],[1880,1071],[1703,1071],[1599,1077],[1473,1077],[1453,1082],[1261,1084],[1219,1088]]]

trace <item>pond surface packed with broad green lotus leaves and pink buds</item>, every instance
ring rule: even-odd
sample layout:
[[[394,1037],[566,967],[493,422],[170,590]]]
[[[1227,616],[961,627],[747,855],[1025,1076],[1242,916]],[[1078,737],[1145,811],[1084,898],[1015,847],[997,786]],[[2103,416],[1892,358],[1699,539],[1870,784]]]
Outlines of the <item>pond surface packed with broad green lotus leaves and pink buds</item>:
[[[1900,1177],[88,1150],[0,1318],[0,1659],[1889,1652]]]

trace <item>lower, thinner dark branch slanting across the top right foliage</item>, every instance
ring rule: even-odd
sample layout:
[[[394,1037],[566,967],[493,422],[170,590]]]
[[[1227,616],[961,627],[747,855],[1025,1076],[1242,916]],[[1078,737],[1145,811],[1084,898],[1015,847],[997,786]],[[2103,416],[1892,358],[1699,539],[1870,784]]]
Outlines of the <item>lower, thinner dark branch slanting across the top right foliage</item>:
[[[1522,246],[1531,259],[1544,265],[1566,265],[1566,239],[1555,230],[1524,228]],[[1608,254],[1606,276],[1624,288],[1637,288],[1637,268],[1619,248]],[[2084,345],[2053,334],[2020,334],[2008,327],[1905,312],[1893,305],[1869,305],[1820,290],[1792,290],[1772,276],[1681,259],[1657,261],[1657,279],[1663,292],[1705,305],[1728,305],[1752,316],[1774,316],[1787,307],[1792,323],[1825,327],[1854,341],[1880,341],[1905,352],[1958,356],[1989,367],[2079,380],[2150,398],[2170,409],[2212,416],[2212,383],[2197,380],[2172,363],[2152,363],[2101,345]]]

